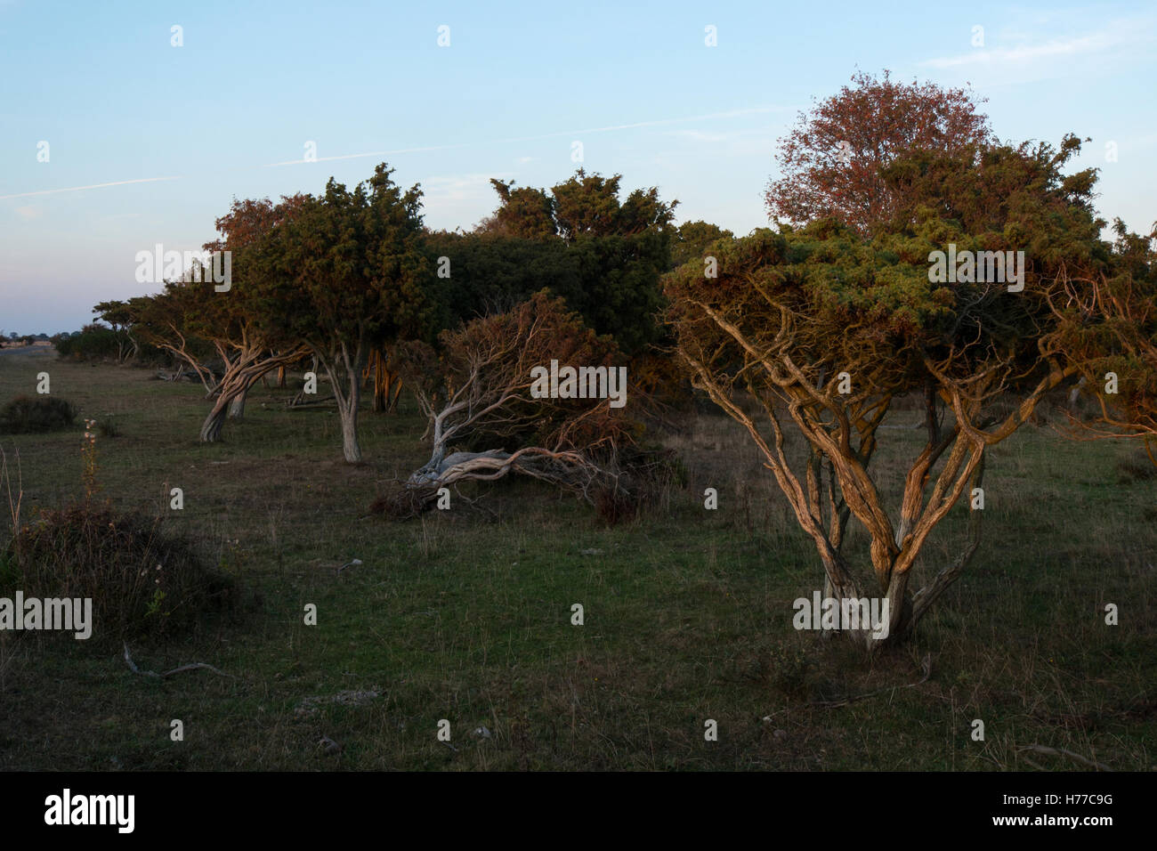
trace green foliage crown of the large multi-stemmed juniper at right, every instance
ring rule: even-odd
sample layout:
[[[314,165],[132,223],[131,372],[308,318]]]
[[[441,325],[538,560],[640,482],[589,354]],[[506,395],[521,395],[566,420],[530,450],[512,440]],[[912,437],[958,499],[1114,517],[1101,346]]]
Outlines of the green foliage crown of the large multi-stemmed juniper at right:
[[[779,339],[809,374],[849,371],[858,387],[879,394],[921,389],[928,359],[956,380],[996,367],[1011,371],[1014,383],[1034,381],[1056,279],[1066,267],[1108,258],[1091,184],[1061,173],[1078,151],[1067,137],[1059,151],[970,147],[956,156],[920,152],[898,160],[884,178],[904,185],[897,197],[905,201],[874,237],[821,219],[717,241],[717,279],[703,277],[698,258],[668,277],[672,315],[725,313],[757,347],[782,331],[788,336]],[[1024,251],[1024,291],[930,281],[929,255],[950,243],[958,252]],[[738,367],[743,358],[730,335],[700,320],[684,322],[683,332],[702,332],[697,345],[712,362]]]

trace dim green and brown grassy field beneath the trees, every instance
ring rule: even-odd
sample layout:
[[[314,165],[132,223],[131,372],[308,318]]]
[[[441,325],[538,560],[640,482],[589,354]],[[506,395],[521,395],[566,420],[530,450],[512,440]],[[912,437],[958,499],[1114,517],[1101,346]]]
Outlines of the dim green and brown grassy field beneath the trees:
[[[349,467],[337,415],[287,411],[289,390],[258,386],[245,420],[202,446],[199,386],[0,352],[0,403],[32,393],[40,371],[53,396],[119,430],[97,439],[102,496],[165,514],[255,607],[132,647],[142,668],[200,661],[231,677],[159,681],[132,673],[115,643],[0,632],[0,769],[1086,768],[1024,749],[1036,744],[1114,769],[1157,763],[1157,479],[1135,445],[1062,441],[1046,426],[996,447],[968,571],[909,645],[868,660],[793,629],[791,602],[821,587],[815,550],[721,417],[669,439],[687,489],[631,523],[609,528],[533,482],[396,523],[367,508],[428,456],[406,398],[397,415],[363,413],[367,463]],[[81,431],[0,438],[9,468],[19,452],[25,520],[80,493]],[[891,469],[921,433],[884,440]],[[702,507],[707,486],[718,511]],[[929,566],[965,514],[957,506],[929,543]],[[336,573],[353,558],[363,564]],[[1118,626],[1104,623],[1108,602]],[[170,740],[171,719],[184,741]]]

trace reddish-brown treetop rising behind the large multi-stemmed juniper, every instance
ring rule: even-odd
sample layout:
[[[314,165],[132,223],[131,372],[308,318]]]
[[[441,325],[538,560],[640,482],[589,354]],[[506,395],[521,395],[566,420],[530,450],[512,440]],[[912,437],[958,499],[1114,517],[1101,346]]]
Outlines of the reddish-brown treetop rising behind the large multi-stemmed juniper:
[[[780,141],[768,213],[789,222],[832,218],[871,233],[894,218],[902,188],[880,169],[915,151],[957,154],[992,141],[988,119],[964,89],[854,74],[853,86],[801,113]],[[983,100],[980,101],[981,103]]]

